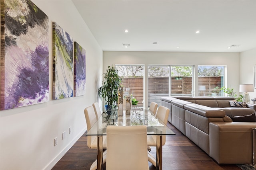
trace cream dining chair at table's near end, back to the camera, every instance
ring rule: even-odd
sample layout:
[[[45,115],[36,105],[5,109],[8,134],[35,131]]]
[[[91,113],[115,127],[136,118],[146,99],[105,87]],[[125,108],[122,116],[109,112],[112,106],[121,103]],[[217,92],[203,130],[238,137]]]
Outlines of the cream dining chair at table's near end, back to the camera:
[[[107,126],[107,148],[106,170],[149,170],[146,126]]]

